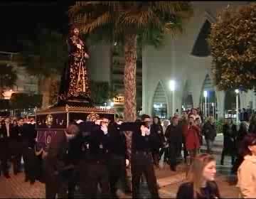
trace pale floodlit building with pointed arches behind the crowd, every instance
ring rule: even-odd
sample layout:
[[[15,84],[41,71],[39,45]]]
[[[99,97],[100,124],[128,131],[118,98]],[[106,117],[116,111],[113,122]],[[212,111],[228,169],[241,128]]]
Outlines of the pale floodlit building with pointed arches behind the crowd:
[[[223,92],[213,85],[212,58],[206,38],[219,11],[228,5],[248,4],[248,1],[191,3],[194,14],[185,24],[183,34],[175,38],[166,36],[165,45],[160,49],[153,46],[143,49],[142,112],[145,114],[169,118],[174,109],[181,112],[181,109],[200,107],[207,115],[224,117],[225,113],[235,110],[235,90]],[[174,91],[170,89],[171,80],[175,81]],[[252,90],[240,92],[239,98],[240,109],[256,108]]]

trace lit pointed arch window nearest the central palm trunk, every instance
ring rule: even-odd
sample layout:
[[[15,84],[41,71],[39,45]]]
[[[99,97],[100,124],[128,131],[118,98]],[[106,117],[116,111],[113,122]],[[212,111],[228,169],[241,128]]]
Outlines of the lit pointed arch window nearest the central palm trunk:
[[[167,118],[167,102],[166,102],[166,95],[164,92],[164,88],[162,87],[161,83],[159,82],[156,91],[154,93],[153,98],[153,116],[158,116],[162,119]]]

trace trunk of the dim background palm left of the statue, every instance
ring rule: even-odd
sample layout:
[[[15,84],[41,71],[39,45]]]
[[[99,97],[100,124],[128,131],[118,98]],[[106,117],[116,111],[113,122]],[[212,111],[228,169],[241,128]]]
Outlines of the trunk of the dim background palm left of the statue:
[[[50,85],[51,77],[43,77],[40,83],[41,94],[43,95],[42,99],[42,109],[47,109],[50,105]]]

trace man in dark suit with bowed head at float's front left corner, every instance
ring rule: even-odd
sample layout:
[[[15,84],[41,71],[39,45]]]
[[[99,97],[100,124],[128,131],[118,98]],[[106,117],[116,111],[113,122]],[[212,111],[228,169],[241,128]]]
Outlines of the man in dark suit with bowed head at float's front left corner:
[[[66,174],[74,168],[69,161],[69,141],[79,133],[75,123],[71,123],[66,131],[58,131],[51,138],[46,156],[46,198],[66,198],[68,181]]]

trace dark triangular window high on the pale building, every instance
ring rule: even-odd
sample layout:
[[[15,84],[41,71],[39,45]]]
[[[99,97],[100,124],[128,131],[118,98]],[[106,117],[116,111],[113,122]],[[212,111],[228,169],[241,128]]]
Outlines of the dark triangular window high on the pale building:
[[[198,38],[196,39],[196,43],[193,45],[192,55],[197,57],[207,57],[210,55],[210,48],[208,46],[208,42],[206,39],[210,34],[210,22],[206,20],[203,23],[200,33],[198,34]]]

